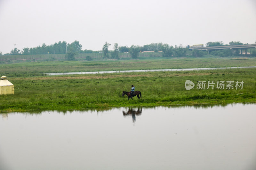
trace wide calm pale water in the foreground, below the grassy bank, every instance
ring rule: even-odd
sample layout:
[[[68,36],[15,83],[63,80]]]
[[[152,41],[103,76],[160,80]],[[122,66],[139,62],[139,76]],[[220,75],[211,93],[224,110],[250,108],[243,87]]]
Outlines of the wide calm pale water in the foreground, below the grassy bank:
[[[0,113],[0,169],[255,170],[256,104]]]

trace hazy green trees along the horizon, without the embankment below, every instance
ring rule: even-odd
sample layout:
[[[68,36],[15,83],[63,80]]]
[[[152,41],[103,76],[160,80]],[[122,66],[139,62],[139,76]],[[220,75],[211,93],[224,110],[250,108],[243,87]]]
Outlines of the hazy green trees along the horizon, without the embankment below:
[[[255,42],[256,43],[256,42]],[[248,43],[247,43],[248,44]],[[146,44],[144,46],[138,46],[138,45],[132,45],[131,47],[128,46],[118,46],[118,43],[114,43],[113,50],[109,50],[109,44],[108,42],[105,42],[102,51],[92,51],[92,50],[82,50],[82,45],[79,43],[79,41],[74,41],[71,44],[67,43],[66,41],[59,41],[58,43],[55,42],[51,45],[46,45],[45,43],[42,44],[42,46],[34,47],[34,48],[28,48],[24,47],[22,50],[14,48],[11,51],[11,55],[29,55],[29,54],[66,54],[67,60],[74,60],[75,55],[78,53],[103,53],[105,58],[113,58],[118,59],[118,53],[130,53],[132,58],[137,58],[140,52],[145,51],[154,51],[154,52],[162,52],[163,57],[182,57],[182,56],[194,56],[194,57],[202,57],[205,55],[215,55],[220,57],[226,57],[226,56],[237,56],[240,55],[239,49],[222,49],[222,50],[213,50],[209,53],[207,51],[202,50],[193,50],[189,51],[188,48],[183,47],[182,45],[175,45],[170,46],[169,44],[163,44],[163,43],[151,43]],[[213,46],[225,46],[222,41],[216,41],[216,42],[207,42],[206,47],[213,47]],[[231,41],[229,44],[226,45],[243,45],[240,41]],[[256,56],[256,49],[251,49],[250,54],[252,56]],[[2,53],[0,52],[0,55]],[[89,56],[87,56],[88,60],[92,60]]]

